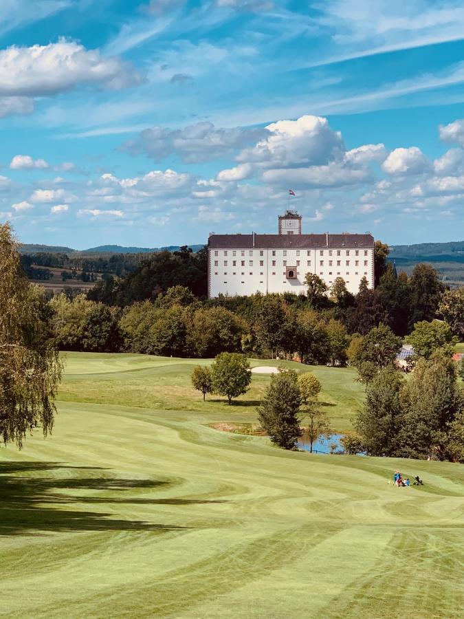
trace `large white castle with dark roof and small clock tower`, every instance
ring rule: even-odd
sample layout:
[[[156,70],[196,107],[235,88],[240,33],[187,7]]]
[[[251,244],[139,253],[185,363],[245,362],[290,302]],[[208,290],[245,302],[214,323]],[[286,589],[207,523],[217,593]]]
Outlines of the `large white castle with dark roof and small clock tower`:
[[[256,292],[306,292],[305,276],[315,273],[330,287],[342,277],[357,293],[366,277],[374,287],[374,238],[370,234],[302,234],[302,217],[287,210],[278,235],[210,235],[208,296]]]

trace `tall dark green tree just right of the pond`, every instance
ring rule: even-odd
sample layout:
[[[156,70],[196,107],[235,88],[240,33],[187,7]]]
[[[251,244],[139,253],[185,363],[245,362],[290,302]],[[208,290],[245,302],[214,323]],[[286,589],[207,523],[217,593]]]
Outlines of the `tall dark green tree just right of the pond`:
[[[402,381],[397,371],[386,368],[368,386],[364,409],[354,422],[368,455],[393,456],[397,453],[402,421],[399,395]]]

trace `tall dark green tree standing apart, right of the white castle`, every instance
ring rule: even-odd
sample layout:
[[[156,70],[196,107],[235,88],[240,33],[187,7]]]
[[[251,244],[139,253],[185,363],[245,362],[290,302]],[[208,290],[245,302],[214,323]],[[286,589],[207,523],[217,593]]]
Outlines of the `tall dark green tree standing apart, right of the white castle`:
[[[408,281],[410,290],[409,330],[415,323],[432,321],[437,314],[441,295],[445,287],[439,281],[439,274],[428,264],[415,265]]]

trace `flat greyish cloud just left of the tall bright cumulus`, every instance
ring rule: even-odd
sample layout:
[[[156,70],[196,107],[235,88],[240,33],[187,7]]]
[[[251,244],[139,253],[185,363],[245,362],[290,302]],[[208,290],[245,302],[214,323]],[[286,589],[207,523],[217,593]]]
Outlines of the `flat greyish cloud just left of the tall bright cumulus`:
[[[154,161],[174,154],[184,162],[195,163],[233,155],[265,133],[265,129],[221,129],[212,122],[197,122],[184,129],[144,129],[135,140],[129,140],[121,148],[133,155],[147,155]]]

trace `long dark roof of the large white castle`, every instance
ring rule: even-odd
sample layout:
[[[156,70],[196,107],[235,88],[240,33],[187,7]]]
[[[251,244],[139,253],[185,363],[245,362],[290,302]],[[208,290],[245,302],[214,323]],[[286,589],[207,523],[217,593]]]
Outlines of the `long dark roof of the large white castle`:
[[[254,244],[253,244],[254,236]],[[211,235],[208,247],[213,249],[267,248],[357,248],[373,247],[372,235]]]

